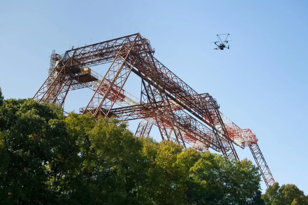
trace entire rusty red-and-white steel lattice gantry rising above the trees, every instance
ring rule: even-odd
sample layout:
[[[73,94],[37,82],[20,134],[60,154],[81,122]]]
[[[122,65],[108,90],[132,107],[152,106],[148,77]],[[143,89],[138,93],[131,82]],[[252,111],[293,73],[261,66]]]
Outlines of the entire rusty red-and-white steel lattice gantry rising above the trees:
[[[229,159],[239,159],[234,144],[249,146],[266,185],[274,183],[255,135],[225,117],[209,93],[197,93],[153,53],[148,39],[139,33],[72,49],[63,57],[53,53],[49,76],[33,98],[64,106],[68,91],[90,88],[94,94],[80,109],[82,114],[141,119],[137,137],[149,136],[155,125],[164,140],[183,148],[186,144],[198,150],[212,148]],[[89,68],[106,63],[111,65],[105,76]],[[123,89],[131,72],[141,78],[141,99]]]

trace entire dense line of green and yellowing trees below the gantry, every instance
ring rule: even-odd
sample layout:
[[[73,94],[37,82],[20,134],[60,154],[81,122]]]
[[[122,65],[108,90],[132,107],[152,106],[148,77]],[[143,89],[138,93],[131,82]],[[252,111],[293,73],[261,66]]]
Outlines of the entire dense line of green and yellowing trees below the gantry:
[[[0,89],[0,204],[264,202],[306,204],[307,197],[278,184],[261,196],[258,169],[247,159],[135,138],[112,118],[65,117],[32,99],[3,101]]]

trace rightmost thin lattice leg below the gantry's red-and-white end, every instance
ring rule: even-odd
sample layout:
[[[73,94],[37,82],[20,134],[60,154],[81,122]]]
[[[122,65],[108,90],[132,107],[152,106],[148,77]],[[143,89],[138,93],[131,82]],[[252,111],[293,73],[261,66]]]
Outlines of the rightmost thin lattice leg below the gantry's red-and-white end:
[[[266,164],[266,161],[265,161],[265,159],[262,155],[262,152],[259,148],[259,145],[257,143],[256,144],[248,144],[248,147],[249,147],[251,153],[253,154],[253,158],[258,165],[258,168],[261,172],[261,175],[264,179],[266,186],[269,187],[269,185],[273,185],[275,183],[275,180],[273,178],[272,173],[270,172],[270,168]]]

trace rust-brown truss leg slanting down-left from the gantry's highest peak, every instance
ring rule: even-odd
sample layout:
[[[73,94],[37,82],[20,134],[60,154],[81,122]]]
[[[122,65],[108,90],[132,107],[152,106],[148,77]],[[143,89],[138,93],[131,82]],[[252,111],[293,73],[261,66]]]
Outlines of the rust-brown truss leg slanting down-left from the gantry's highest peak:
[[[130,65],[127,63],[129,59],[134,59],[131,53],[134,44],[135,41],[121,47],[82,114],[91,112],[95,117],[108,116],[136,62],[134,60]],[[111,97],[111,95],[115,95],[115,97]]]

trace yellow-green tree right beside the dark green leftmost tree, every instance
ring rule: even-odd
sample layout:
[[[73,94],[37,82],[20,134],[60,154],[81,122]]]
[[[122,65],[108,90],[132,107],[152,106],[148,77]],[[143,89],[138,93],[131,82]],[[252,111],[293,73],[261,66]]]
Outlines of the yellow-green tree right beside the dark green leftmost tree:
[[[138,204],[147,169],[142,140],[112,118],[94,123],[91,116],[71,113],[65,122],[79,150],[63,189],[66,203]]]

